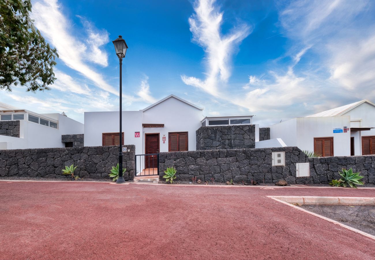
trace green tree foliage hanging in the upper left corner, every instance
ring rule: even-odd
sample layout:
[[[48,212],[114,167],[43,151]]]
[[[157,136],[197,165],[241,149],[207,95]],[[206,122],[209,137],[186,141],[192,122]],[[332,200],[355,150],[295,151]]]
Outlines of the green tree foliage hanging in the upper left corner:
[[[0,89],[49,89],[58,57],[33,25],[30,0],[0,0]]]

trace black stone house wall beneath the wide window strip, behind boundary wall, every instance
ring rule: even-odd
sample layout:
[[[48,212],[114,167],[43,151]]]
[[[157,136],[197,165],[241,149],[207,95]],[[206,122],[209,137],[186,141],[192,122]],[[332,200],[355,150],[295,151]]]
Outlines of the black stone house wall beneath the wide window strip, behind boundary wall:
[[[255,125],[202,126],[196,130],[196,150],[255,148]]]

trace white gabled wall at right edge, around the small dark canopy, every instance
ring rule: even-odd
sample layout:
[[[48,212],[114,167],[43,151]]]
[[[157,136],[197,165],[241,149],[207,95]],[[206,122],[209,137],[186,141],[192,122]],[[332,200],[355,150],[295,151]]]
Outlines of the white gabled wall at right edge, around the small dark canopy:
[[[344,115],[350,116],[352,120],[362,119],[360,125],[358,125],[358,122],[352,122],[351,127],[375,127],[375,107],[371,104],[362,103]],[[353,132],[352,136],[354,136],[354,153],[355,155],[361,155],[362,136],[375,136],[375,128],[369,131]]]

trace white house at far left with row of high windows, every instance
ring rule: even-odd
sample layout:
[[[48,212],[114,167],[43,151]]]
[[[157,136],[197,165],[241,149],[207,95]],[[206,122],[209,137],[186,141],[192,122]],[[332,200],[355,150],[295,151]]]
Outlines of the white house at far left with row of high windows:
[[[60,113],[39,114],[0,103],[0,124],[19,121],[19,137],[0,134],[0,150],[65,147],[62,135],[82,134],[83,124]],[[1,131],[1,130],[0,130]]]

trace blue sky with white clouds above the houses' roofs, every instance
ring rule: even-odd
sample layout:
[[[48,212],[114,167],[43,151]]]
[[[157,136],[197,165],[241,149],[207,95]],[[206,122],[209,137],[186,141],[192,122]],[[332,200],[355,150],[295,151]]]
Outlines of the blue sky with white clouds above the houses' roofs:
[[[34,0],[32,17],[60,58],[51,91],[23,88],[0,100],[39,113],[118,109],[169,94],[205,116],[256,115],[266,126],[362,99],[375,101],[371,0]]]

